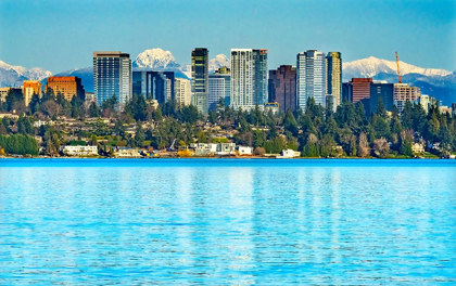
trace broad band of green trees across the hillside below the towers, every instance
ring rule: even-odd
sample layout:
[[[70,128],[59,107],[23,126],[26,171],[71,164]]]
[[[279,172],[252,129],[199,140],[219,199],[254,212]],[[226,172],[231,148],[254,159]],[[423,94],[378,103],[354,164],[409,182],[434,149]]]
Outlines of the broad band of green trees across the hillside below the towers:
[[[17,107],[14,99],[9,94],[2,108]],[[169,101],[156,107],[154,102],[136,94],[122,112],[118,104],[115,95],[104,101],[100,108],[94,103],[87,106],[76,98],[67,102],[62,95],[54,96],[49,92],[42,99],[34,95],[27,110],[30,116],[22,116],[17,121],[3,119],[0,134],[41,135],[42,146],[52,153],[68,142],[62,140],[62,130],[58,127],[34,129],[33,116],[103,116],[111,117],[114,127],[100,121],[94,123],[94,130],[79,130],[74,134],[90,139],[91,144],[97,144],[97,136],[101,136],[109,145],[165,148],[174,140],[181,146],[193,142],[218,142],[221,131],[233,134],[237,144],[263,148],[267,153],[292,148],[307,157],[413,156],[414,143],[426,147],[433,144],[434,147],[428,151],[439,156],[456,150],[455,117],[440,113],[436,106],[426,113],[420,104],[410,102],[406,102],[401,115],[395,106],[388,113],[381,100],[370,115],[366,115],[362,103],[345,101],[334,113],[332,108],[316,104],[313,98],[308,99],[305,109],[278,114],[259,106],[251,110],[232,109],[220,100],[214,110],[203,116],[192,105],[182,106]],[[132,136],[126,132],[125,123],[135,122],[137,130]],[[13,126],[17,128],[14,132]]]

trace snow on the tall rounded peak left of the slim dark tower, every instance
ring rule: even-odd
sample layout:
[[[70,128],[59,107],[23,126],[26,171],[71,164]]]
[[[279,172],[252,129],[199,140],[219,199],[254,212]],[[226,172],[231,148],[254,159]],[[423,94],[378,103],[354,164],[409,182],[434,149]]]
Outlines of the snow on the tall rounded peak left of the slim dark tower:
[[[147,67],[152,69],[179,69],[180,65],[174,58],[172,52],[160,48],[145,50],[139,53],[132,63],[134,67]]]

